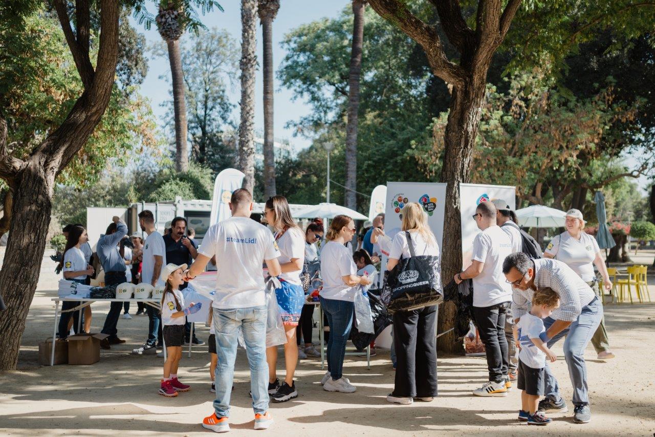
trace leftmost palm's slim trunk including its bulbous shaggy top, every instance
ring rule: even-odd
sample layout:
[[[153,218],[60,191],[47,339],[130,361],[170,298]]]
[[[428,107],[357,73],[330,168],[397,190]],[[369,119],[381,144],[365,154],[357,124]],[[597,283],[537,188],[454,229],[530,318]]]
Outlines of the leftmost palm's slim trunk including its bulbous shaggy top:
[[[184,75],[179,52],[179,37],[184,33],[185,13],[174,1],[162,0],[157,14],[157,30],[168,45],[168,60],[173,79],[173,108],[175,114],[175,168],[189,169],[187,149],[187,106],[184,101]]]

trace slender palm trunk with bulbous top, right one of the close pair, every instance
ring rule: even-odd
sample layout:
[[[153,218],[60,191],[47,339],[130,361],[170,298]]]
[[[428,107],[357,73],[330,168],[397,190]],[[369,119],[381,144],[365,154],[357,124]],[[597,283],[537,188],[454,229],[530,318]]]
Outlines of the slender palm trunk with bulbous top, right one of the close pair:
[[[273,20],[280,0],[259,0],[259,20],[264,39],[264,196],[276,195],[275,150],[273,148]]]

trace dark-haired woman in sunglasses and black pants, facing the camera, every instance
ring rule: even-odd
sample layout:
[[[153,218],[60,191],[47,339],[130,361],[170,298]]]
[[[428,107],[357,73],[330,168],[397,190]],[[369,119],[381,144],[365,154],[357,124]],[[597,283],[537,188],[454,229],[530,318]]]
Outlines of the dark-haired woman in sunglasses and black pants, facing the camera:
[[[309,283],[306,290],[307,294],[314,291],[312,282],[320,275],[320,260],[318,259],[318,247],[316,241],[323,238],[323,220],[314,218],[305,229],[305,266],[303,275],[307,276]],[[300,314],[298,328],[295,331],[296,343],[300,346],[300,334],[302,330],[305,347],[298,350],[298,358],[307,358],[308,356],[319,357],[321,353],[314,348],[312,344],[312,317],[314,316],[314,304],[303,305],[303,312]]]

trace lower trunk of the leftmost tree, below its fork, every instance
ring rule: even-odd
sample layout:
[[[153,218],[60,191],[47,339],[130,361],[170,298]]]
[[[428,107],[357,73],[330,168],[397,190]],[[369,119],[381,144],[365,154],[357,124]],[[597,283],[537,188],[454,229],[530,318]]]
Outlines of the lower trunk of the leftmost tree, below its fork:
[[[7,310],[0,311],[0,332],[11,333],[0,336],[0,369],[16,369],[20,339],[41,273],[54,174],[48,177],[39,167],[31,163],[16,179],[12,208],[12,224],[16,226],[9,233],[0,271],[0,290],[7,305]]]

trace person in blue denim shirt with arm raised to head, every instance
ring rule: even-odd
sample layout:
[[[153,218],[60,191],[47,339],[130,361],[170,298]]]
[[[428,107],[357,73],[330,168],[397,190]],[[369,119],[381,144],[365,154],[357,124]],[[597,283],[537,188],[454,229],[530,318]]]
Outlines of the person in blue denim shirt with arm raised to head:
[[[119,285],[127,282],[123,258],[124,246],[122,245],[122,238],[127,235],[127,225],[118,216],[114,216],[111,220],[112,223],[107,226],[107,232],[98,240],[96,253],[105,271],[105,285]],[[119,242],[121,242],[120,249]],[[107,314],[105,325],[102,328],[102,333],[109,335],[100,341],[100,347],[103,349],[111,349],[111,344],[125,343],[116,335],[118,333],[116,325],[121,317],[122,306],[123,302],[111,302],[109,314]]]

